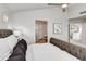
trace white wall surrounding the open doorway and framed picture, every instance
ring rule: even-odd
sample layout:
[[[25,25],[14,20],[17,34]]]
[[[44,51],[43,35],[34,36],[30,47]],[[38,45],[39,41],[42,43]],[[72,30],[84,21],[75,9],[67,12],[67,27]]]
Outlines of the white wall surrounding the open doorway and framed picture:
[[[21,27],[25,29],[26,35],[32,43],[35,41],[35,21],[44,20],[48,21],[48,37],[54,37],[67,41],[67,14],[63,13],[61,8],[50,8],[35,11],[25,11],[14,13],[10,16],[9,25],[14,27]],[[53,23],[62,23],[62,33],[53,34]]]

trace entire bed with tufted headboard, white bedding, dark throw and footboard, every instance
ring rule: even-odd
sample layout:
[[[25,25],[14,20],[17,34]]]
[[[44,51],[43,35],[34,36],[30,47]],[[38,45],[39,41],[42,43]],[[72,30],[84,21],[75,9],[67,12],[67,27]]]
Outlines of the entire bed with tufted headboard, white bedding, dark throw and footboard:
[[[0,61],[86,61],[86,48],[56,38],[48,43],[27,44],[9,29],[0,29]]]

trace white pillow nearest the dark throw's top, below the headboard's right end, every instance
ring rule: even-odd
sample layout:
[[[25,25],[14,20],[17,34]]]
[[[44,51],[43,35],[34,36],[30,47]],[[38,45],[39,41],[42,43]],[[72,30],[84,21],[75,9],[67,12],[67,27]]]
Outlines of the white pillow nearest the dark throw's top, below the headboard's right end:
[[[16,43],[17,43],[17,38],[16,38],[14,35],[11,35],[11,36],[4,38],[4,40],[5,40],[5,43],[9,44],[11,51],[13,50],[13,48],[14,48],[14,47],[16,46]]]

